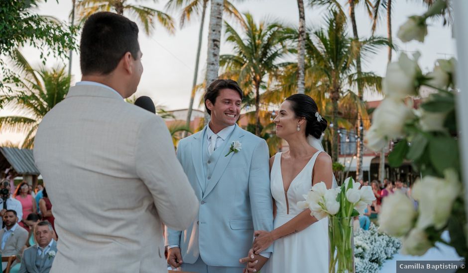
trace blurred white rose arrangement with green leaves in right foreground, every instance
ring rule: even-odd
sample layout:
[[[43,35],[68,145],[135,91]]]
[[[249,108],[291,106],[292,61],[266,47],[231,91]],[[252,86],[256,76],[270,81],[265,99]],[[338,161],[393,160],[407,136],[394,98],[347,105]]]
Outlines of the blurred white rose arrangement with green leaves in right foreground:
[[[440,14],[446,7],[447,1],[438,0],[431,12],[422,16],[424,24],[428,16]],[[399,36],[405,34],[403,41],[424,40],[417,34],[421,32],[405,29],[414,18],[400,28]],[[422,35],[426,34],[423,31]],[[379,213],[380,230],[401,237],[404,254],[423,255],[435,242],[442,242],[466,258],[468,225],[455,108],[456,61],[437,60],[434,70],[423,74],[418,57],[401,54],[397,62],[388,65],[382,81],[385,98],[374,111],[372,126],[364,137],[367,147],[374,151],[380,151],[390,140],[398,141],[388,155],[390,166],[411,161],[422,176],[411,196],[395,193],[385,198]],[[422,86],[430,90],[428,96],[420,93]],[[408,103],[412,96],[423,97],[418,109]],[[441,238],[445,230],[450,242]]]

